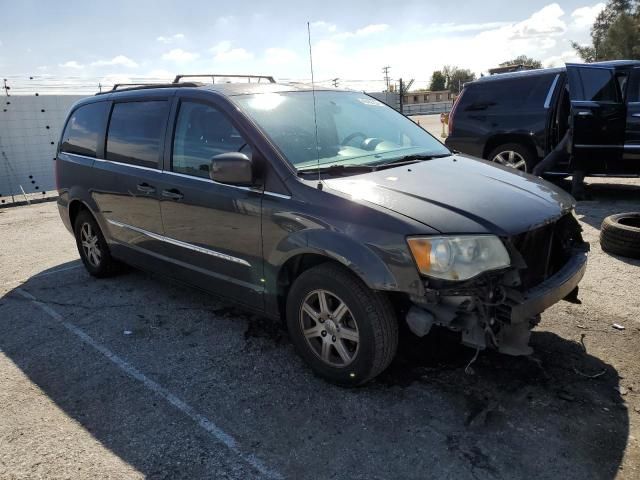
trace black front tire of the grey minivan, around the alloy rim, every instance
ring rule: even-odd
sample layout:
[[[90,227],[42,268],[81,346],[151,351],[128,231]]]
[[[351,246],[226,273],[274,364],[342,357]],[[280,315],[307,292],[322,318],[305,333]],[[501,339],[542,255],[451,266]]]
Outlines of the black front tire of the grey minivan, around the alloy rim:
[[[348,316],[350,320],[347,321],[355,322],[359,338],[357,348],[350,345],[353,359],[347,365],[334,366],[323,360],[314,351],[311,340],[307,340],[303,334],[303,304],[318,290],[326,291],[329,296],[335,295],[333,299],[343,302],[349,310],[343,319]],[[306,317],[307,321],[309,319],[310,316]],[[329,320],[324,324],[327,330],[328,324]],[[318,322],[315,325],[323,328]],[[338,325],[338,331],[342,326],[340,323],[332,325]],[[344,267],[332,263],[311,268],[296,279],[287,298],[287,327],[296,351],[313,371],[324,379],[343,386],[362,385],[380,374],[389,366],[398,347],[398,322],[389,299],[384,294],[369,289]],[[318,335],[312,340],[322,343],[323,338]],[[329,342],[329,338],[326,340]],[[343,342],[340,338],[337,341]],[[333,342],[336,342],[336,337],[333,337]],[[331,348],[337,358],[338,349],[335,346]]]

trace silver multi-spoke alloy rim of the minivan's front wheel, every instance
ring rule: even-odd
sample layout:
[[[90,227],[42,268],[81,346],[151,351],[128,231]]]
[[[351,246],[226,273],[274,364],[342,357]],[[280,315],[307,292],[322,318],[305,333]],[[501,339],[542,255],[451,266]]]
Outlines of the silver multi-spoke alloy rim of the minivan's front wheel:
[[[360,344],[358,324],[337,295],[314,290],[302,302],[300,327],[315,355],[333,367],[345,367],[356,358]]]

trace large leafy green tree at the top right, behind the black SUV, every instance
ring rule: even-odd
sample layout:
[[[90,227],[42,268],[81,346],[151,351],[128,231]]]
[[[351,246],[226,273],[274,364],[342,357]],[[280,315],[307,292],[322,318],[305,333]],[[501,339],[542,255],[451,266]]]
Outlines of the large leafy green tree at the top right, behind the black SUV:
[[[640,59],[640,0],[609,0],[591,27],[591,45],[572,46],[586,62]]]

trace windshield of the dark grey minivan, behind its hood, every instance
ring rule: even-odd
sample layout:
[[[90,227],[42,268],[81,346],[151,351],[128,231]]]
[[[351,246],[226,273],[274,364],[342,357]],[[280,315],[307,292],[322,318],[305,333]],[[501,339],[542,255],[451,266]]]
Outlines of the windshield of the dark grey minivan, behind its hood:
[[[363,93],[316,92],[317,153],[311,91],[241,95],[234,100],[300,171],[318,164],[378,165],[411,155],[450,154],[414,122]]]

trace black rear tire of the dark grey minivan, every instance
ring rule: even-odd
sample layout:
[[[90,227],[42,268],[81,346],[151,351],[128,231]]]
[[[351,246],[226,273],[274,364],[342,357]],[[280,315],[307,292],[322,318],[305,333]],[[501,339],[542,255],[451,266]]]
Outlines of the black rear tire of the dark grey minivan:
[[[87,249],[83,247],[83,228],[87,228],[87,226],[89,227],[89,231],[92,236],[96,237],[95,247],[99,254],[96,254],[95,256],[88,254]],[[120,272],[121,264],[111,256],[109,246],[104,239],[102,230],[100,230],[98,222],[96,222],[95,218],[93,218],[93,215],[91,215],[89,211],[82,210],[78,213],[73,225],[73,232],[76,237],[76,246],[78,247],[78,253],[80,253],[80,259],[91,275],[98,278],[104,278]]]

